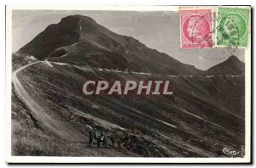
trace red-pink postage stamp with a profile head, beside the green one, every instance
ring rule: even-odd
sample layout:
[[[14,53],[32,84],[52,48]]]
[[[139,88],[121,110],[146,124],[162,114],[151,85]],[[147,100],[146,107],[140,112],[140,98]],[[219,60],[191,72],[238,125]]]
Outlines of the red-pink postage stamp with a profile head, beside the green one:
[[[180,10],[181,48],[212,48],[212,10]]]

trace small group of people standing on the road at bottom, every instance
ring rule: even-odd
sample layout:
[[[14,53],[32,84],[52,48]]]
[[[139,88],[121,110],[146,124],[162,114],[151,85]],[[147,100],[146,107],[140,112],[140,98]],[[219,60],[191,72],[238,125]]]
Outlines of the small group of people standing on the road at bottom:
[[[110,137],[111,140],[111,146],[114,148],[114,138],[113,136]],[[94,128],[92,131],[90,131],[89,135],[89,142],[90,147],[93,147],[94,143],[96,143],[96,146],[99,148],[101,146],[107,148],[108,147],[108,138],[104,131],[98,131],[96,128]]]

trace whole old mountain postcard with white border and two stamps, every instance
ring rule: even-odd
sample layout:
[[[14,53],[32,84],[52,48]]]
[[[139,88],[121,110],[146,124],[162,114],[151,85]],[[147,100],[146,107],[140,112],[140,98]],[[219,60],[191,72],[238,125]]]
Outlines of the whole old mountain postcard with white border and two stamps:
[[[6,7],[9,163],[250,163],[251,7]]]

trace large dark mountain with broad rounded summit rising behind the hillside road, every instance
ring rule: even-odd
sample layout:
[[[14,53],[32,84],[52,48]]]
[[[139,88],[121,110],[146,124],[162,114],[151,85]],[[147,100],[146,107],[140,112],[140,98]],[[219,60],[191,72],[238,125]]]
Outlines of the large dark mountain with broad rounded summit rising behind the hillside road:
[[[67,16],[49,25],[18,53],[109,69],[173,75],[202,73],[193,65],[148,48],[131,36],[120,36],[82,15]]]

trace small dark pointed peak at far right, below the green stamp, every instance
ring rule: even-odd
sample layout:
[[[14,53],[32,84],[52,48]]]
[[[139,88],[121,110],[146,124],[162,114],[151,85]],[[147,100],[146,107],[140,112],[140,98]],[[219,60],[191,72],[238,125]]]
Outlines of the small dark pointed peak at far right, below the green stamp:
[[[241,62],[241,60],[237,59],[236,56],[232,55],[223,63],[217,64],[207,70],[207,74],[242,76],[244,75],[244,70],[245,64]]]

